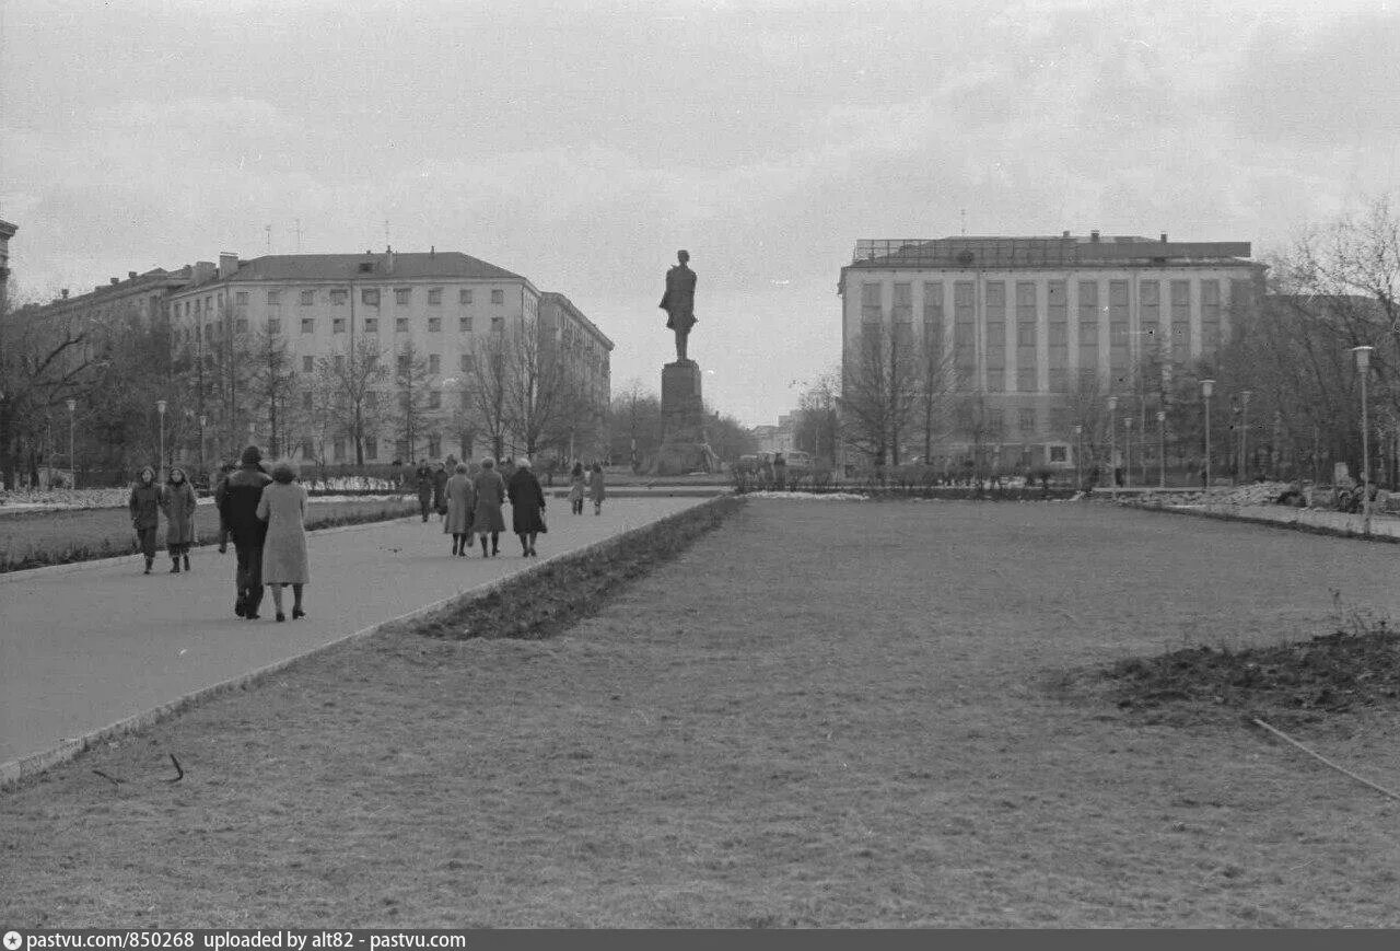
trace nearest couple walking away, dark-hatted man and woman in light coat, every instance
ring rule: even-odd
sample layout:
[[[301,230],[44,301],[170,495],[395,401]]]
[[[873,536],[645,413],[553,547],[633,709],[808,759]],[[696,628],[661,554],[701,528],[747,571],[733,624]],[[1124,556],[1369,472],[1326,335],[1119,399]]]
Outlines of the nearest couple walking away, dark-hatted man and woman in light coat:
[[[305,618],[302,590],[311,580],[307,566],[307,490],[297,483],[291,462],[277,462],[269,476],[256,445],[244,450],[241,465],[214,490],[223,528],[234,539],[238,556],[234,613],[259,618],[263,587],[272,587],[277,620],[284,588],[291,585],[291,616]],[[220,542],[218,550],[227,550]]]

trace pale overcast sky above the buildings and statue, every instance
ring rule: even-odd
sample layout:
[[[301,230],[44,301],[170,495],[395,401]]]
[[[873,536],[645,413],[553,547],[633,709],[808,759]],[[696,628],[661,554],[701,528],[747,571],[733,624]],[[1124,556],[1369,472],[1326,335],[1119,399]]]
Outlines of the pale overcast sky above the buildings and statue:
[[[0,0],[22,296],[267,254],[463,251],[659,388],[687,248],[706,396],[839,359],[857,238],[1282,245],[1400,192],[1390,3]]]

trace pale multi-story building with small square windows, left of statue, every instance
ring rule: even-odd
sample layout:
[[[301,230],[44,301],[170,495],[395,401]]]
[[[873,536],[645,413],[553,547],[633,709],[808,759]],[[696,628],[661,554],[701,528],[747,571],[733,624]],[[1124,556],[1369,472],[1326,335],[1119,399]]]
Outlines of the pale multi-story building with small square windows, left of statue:
[[[477,258],[435,249],[269,255],[251,261],[221,254],[217,266],[202,268],[203,279],[168,303],[175,345],[200,367],[213,366],[218,347],[231,342],[284,342],[293,374],[284,419],[294,430],[280,440],[286,455],[326,462],[356,459],[347,433],[314,431],[307,419],[319,399],[314,385],[322,359],[351,359],[365,347],[382,354],[385,363],[402,363],[407,354],[421,360],[428,388],[427,420],[413,445],[395,426],[382,423],[392,410],[377,413],[381,424],[363,440],[367,462],[409,462],[449,452],[469,457],[480,451],[486,445],[483,429],[472,424],[472,408],[462,394],[486,353],[489,335],[517,325],[539,326],[542,333],[547,326],[577,353],[598,412],[606,406],[612,342],[563,296],[542,296],[528,279]],[[389,406],[402,395],[392,392],[392,378],[379,389],[370,396],[389,401]],[[228,405],[237,406],[237,401]],[[213,452],[227,454],[241,443],[245,423],[249,437],[266,441],[266,417],[242,413],[221,422],[221,443],[227,444],[213,447]]]

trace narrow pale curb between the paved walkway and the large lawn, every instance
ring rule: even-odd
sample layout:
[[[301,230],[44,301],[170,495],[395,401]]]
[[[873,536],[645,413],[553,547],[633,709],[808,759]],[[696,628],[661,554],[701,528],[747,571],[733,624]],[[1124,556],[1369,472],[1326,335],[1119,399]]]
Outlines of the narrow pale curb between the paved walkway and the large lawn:
[[[518,584],[521,578],[528,578],[536,573],[540,573],[552,564],[559,564],[570,559],[581,559],[589,555],[596,555],[602,550],[606,550],[610,546],[622,545],[641,536],[643,534],[665,528],[672,521],[693,517],[700,511],[704,511],[707,508],[714,508],[725,503],[727,500],[735,497],[736,496],[734,496],[732,493],[725,493],[722,496],[708,499],[697,506],[682,508],[680,511],[658,518],[657,521],[647,522],[644,525],[637,525],[636,528],[630,528],[622,532],[620,535],[613,535],[612,538],[605,538],[599,542],[592,542],[591,545],[585,545],[584,548],[578,548],[571,552],[564,552],[561,555],[546,557],[503,578],[487,581],[486,584],[482,584],[475,588],[468,588],[466,591],[456,591],[455,594],[417,606],[413,611],[406,611],[405,613],[398,615],[395,618],[381,620],[378,623],[370,625],[368,627],[361,627],[360,630],[351,632],[342,637],[328,640],[325,644],[311,647],[300,654],[294,654],[293,657],[286,657],[280,661],[273,661],[272,664],[259,667],[258,669],[249,671],[248,674],[241,674],[227,681],[220,681],[218,683],[211,683],[197,690],[192,690],[190,693],[176,697],[175,700],[171,700],[168,703],[151,707],[150,710],[144,710],[134,716],[126,717],[125,720],[118,720],[116,723],[111,723],[105,727],[91,730],[83,734],[81,737],[63,740],[60,744],[55,745],[50,749],[42,749],[34,754],[28,754],[25,756],[20,756],[18,759],[11,759],[8,762],[0,763],[0,793],[11,791],[24,780],[41,776],[42,773],[46,773],[55,766],[62,766],[63,763],[71,759],[77,759],[81,754],[87,752],[88,749],[92,749],[99,744],[109,742],[118,737],[126,737],[134,733],[140,733],[141,730],[146,730],[148,727],[155,726],[157,723],[175,717],[183,713],[185,710],[190,710],[203,703],[207,703],[209,700],[224,696],[225,693],[232,693],[235,690],[246,690],[249,688],[253,688],[262,683],[263,681],[277,674],[281,674],[287,668],[300,664],[301,661],[305,661],[308,658],[323,654],[335,647],[374,637],[375,634],[381,633],[384,629],[389,626],[402,625],[405,622],[426,618],[431,615],[434,611],[440,611],[452,604],[465,604],[468,601],[476,601],[479,598],[490,597],[500,588]],[[367,524],[374,524],[374,522],[367,522]],[[337,528],[360,528],[360,525],[343,525]],[[335,529],[328,529],[328,531],[335,531]],[[66,567],[66,566],[53,566],[53,567]]]

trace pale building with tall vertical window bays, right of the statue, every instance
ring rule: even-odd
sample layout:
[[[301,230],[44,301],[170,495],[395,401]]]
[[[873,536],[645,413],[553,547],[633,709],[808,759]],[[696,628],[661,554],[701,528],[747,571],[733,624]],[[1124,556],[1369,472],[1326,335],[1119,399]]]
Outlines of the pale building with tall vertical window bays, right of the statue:
[[[962,412],[930,464],[1072,466],[1085,399],[1155,389],[1148,373],[1214,353],[1232,314],[1257,305],[1264,265],[1249,256],[1249,242],[1165,234],[862,240],[837,291],[843,368],[867,328],[934,354],[939,399]]]

